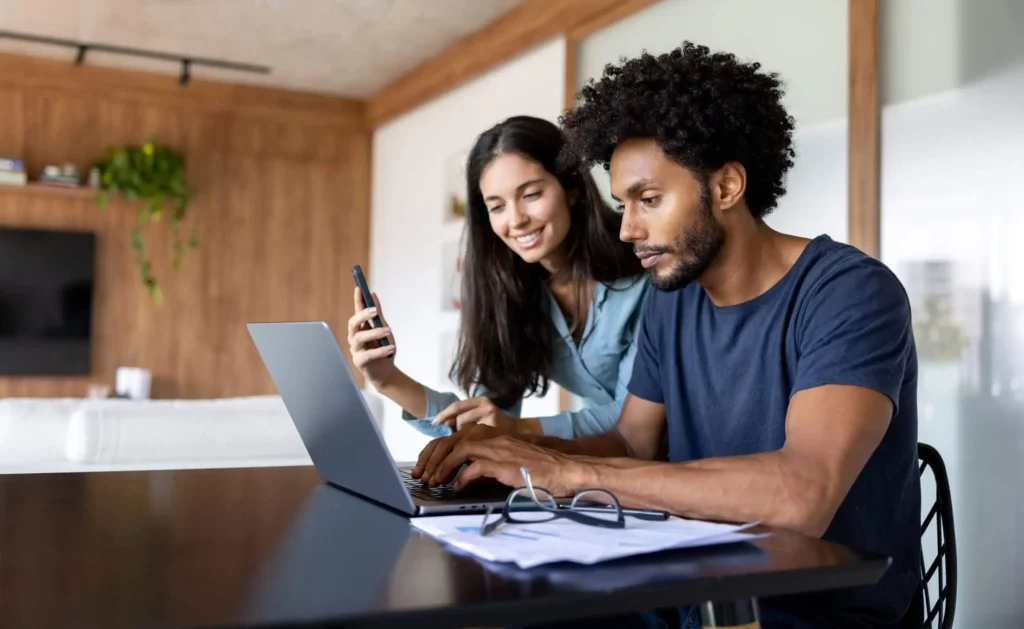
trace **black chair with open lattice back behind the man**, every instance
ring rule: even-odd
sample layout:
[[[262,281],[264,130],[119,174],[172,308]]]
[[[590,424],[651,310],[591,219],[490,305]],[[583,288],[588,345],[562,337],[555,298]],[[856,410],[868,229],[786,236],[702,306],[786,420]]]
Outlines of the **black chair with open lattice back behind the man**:
[[[956,533],[949,476],[946,475],[942,457],[928,444],[918,444],[918,459],[921,461],[922,477],[931,469],[935,478],[935,501],[921,525],[921,537],[924,539],[929,529],[934,529],[936,553],[935,558],[926,563],[922,544],[921,589],[903,618],[902,626],[904,629],[951,629],[956,611]],[[930,586],[936,579],[938,587],[935,588],[933,601]]]

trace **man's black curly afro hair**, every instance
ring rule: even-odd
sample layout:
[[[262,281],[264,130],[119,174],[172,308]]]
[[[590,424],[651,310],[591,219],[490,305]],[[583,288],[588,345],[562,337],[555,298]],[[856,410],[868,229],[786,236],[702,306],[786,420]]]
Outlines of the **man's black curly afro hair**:
[[[690,42],[667,54],[644,52],[621,66],[609,64],[600,80],[583,88],[582,103],[560,120],[563,159],[607,169],[620,142],[650,137],[697,176],[739,162],[746,170],[746,205],[762,217],[785,194],[795,153],[781,81],[760,69]]]

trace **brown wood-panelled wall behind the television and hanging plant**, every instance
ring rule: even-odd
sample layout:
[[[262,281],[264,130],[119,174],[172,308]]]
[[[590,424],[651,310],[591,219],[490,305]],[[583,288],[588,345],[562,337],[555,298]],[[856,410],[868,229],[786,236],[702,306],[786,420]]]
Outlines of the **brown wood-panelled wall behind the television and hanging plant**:
[[[82,396],[123,365],[152,370],[157,397],[269,393],[246,322],[326,320],[344,334],[348,268],[369,258],[361,104],[0,56],[0,156],[23,157],[32,178],[48,163],[85,172],[108,145],[152,134],[185,153],[200,241],[174,272],[166,225],[148,232],[158,306],[132,263],[134,206],[101,212],[88,196],[0,186],[0,226],[97,235],[92,374],[0,378],[0,397]]]

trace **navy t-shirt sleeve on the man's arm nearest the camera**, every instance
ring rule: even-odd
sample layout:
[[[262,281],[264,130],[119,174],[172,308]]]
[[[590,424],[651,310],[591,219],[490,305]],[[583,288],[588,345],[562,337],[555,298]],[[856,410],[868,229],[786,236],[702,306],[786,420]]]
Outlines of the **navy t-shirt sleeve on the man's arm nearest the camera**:
[[[895,415],[907,365],[913,355],[910,304],[896,277],[865,259],[822,279],[798,328],[793,392],[825,384],[880,391]]]

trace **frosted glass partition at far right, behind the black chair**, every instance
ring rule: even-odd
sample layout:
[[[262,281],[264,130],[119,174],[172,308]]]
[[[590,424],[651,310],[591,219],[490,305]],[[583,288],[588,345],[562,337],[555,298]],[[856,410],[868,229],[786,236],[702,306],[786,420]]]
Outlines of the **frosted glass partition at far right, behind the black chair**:
[[[950,475],[955,626],[1019,627],[1024,3],[880,6],[881,252],[911,301],[920,438],[939,450]],[[928,502],[934,490],[923,491]]]

